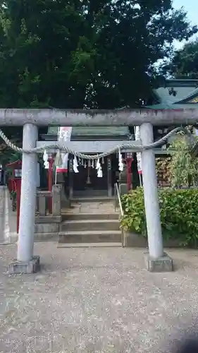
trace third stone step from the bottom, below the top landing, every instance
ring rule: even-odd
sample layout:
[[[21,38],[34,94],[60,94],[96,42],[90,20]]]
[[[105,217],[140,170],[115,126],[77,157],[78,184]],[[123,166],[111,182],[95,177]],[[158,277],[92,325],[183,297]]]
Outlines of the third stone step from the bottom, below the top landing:
[[[62,213],[62,220],[118,220],[119,213]]]

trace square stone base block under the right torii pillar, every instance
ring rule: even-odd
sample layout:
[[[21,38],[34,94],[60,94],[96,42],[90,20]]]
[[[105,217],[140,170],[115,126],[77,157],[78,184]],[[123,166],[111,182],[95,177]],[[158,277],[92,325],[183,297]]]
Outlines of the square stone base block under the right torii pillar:
[[[167,253],[161,258],[151,258],[149,253],[144,253],[144,261],[149,272],[172,272],[173,260]]]

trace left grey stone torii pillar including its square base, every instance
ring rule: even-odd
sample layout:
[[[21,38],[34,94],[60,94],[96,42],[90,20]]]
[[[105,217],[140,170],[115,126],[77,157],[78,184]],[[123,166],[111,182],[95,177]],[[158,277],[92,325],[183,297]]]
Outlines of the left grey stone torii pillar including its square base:
[[[38,128],[23,126],[23,149],[35,148]],[[10,273],[34,273],[39,270],[39,256],[33,256],[35,237],[35,208],[37,194],[37,154],[23,153],[20,193],[20,222],[17,261],[10,264]]]

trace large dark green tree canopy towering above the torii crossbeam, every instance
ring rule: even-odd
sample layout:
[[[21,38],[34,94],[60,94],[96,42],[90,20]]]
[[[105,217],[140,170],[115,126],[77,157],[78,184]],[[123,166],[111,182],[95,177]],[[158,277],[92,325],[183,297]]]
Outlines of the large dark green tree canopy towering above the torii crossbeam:
[[[135,107],[195,32],[172,0],[1,1],[1,108]]]

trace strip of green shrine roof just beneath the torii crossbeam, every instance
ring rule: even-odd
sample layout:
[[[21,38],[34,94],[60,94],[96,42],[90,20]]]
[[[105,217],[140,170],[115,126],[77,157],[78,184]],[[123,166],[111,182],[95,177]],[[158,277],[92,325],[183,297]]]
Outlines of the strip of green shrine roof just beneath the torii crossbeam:
[[[128,133],[128,126],[74,126],[72,129],[72,136],[123,136]],[[48,134],[58,135],[58,126],[50,126]]]

